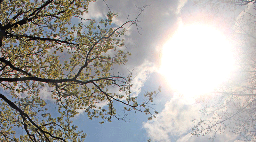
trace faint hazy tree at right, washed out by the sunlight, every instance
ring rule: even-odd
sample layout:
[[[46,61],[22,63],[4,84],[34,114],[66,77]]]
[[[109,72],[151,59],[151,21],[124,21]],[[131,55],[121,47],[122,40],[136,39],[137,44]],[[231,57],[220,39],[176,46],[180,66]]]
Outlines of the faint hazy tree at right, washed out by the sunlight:
[[[193,135],[203,136],[230,131],[241,140],[256,140],[256,1],[207,0],[195,4],[210,8],[231,27],[236,71],[215,92],[215,102],[202,109],[204,118],[194,120]],[[232,16],[233,15],[233,16]],[[213,99],[211,98],[211,99]]]

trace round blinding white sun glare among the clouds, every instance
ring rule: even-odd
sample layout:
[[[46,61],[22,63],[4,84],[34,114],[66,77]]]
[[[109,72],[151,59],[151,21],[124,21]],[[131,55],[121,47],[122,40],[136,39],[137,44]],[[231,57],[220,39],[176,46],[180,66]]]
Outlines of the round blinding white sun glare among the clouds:
[[[213,91],[233,68],[231,43],[209,25],[180,26],[163,47],[159,72],[172,89],[199,95]]]

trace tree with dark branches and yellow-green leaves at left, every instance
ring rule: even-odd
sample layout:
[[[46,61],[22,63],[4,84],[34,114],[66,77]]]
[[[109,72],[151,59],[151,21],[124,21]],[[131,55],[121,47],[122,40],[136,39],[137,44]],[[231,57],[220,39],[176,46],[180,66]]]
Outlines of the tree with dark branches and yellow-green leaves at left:
[[[132,71],[124,76],[112,69],[127,62],[130,53],[119,47],[124,27],[138,27],[138,17],[116,28],[111,24],[115,12],[98,22],[84,19],[89,2],[0,0],[0,141],[83,141],[86,134],[76,130],[71,118],[82,109],[90,119],[101,117],[101,123],[125,120],[126,115],[116,114],[114,101],[125,111],[155,117],[149,105],[156,92],[145,93],[147,100],[138,103],[130,91]],[[47,113],[40,94],[44,88],[51,88],[59,117]],[[16,138],[13,127],[25,134]]]

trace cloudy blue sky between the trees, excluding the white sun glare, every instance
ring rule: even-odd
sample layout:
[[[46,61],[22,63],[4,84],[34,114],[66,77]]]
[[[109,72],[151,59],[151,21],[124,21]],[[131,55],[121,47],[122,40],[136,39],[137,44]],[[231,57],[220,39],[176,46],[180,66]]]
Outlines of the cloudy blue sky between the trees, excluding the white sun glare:
[[[179,24],[196,23],[211,19],[198,16],[199,9],[193,6],[193,1],[187,0],[108,0],[111,11],[118,12],[113,19],[116,25],[122,24],[127,16],[132,19],[138,14],[138,7],[150,5],[140,15],[140,34],[135,26],[128,29],[125,38],[125,50],[131,52],[127,65],[118,66],[114,70],[125,72],[126,68],[133,69],[136,75],[133,79],[133,95],[140,99],[145,91],[154,91],[162,86],[162,92],[155,99],[153,107],[159,112],[157,118],[148,121],[144,113],[129,112],[126,117],[130,122],[112,120],[111,123],[99,124],[101,119],[89,120],[81,113],[74,118],[79,130],[87,134],[87,142],[146,142],[151,138],[154,142],[207,142],[208,137],[191,137],[192,119],[200,118],[199,109],[203,104],[196,103],[192,95],[180,95],[169,84],[168,78],[158,73],[161,66],[162,50],[177,31]],[[99,0],[90,3],[89,12],[84,18],[105,18],[108,12],[106,4]],[[216,26],[216,25],[215,25]],[[225,30],[224,33],[226,32]],[[181,41],[182,42],[182,41]],[[186,40],[184,40],[186,42]],[[171,66],[171,65],[170,65]],[[186,80],[184,80],[186,82]],[[145,91],[144,91],[145,90]],[[119,108],[119,109],[118,109]],[[123,106],[116,104],[116,109],[123,114]],[[239,142],[237,136],[231,133],[217,134],[216,142]]]

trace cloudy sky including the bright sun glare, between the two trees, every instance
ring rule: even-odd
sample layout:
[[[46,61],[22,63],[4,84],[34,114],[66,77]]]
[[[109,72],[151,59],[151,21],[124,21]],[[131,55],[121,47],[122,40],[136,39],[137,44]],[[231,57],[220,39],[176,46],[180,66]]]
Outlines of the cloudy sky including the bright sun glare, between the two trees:
[[[159,114],[157,118],[148,121],[148,116],[144,113],[129,112],[126,117],[129,122],[113,120],[111,123],[99,124],[100,119],[89,120],[86,114],[82,113],[73,121],[79,130],[83,130],[87,134],[85,141],[146,142],[149,138],[153,142],[212,141],[208,139],[208,136],[191,136],[191,128],[194,126],[191,120],[203,117],[199,110],[204,104],[197,103],[199,96],[196,94],[211,91],[212,88],[206,90],[202,88],[217,86],[232,69],[232,66],[227,66],[232,60],[225,59],[231,59],[232,55],[227,55],[227,53],[231,53],[228,52],[229,48],[226,49],[227,51],[223,51],[226,53],[225,55],[218,55],[220,61],[207,60],[207,62],[211,62],[212,68],[203,62],[204,59],[215,58],[215,55],[211,54],[215,51],[208,50],[212,47],[219,47],[214,41],[218,40],[221,41],[221,45],[232,47],[225,40],[224,35],[228,33],[228,29],[220,26],[222,21],[200,15],[200,10],[193,6],[193,1],[187,0],[107,0],[106,3],[111,11],[118,12],[118,17],[113,19],[113,23],[116,25],[124,23],[128,15],[131,19],[135,18],[139,11],[137,7],[150,5],[139,17],[141,27],[139,32],[135,26],[128,29],[124,37],[126,47],[123,48],[131,52],[132,55],[128,57],[125,66],[118,66],[115,70],[134,69],[135,78],[132,82],[132,92],[133,95],[138,96],[139,100],[146,91],[154,91],[158,89],[158,86],[162,86],[162,91],[154,100],[156,105],[153,106]],[[102,0],[90,3],[89,12],[84,15],[84,18],[105,18],[108,7]],[[204,29],[205,25],[207,27]],[[207,29],[208,27],[211,28]],[[191,29],[196,31],[190,31]],[[197,29],[203,30],[198,31]],[[213,33],[212,36],[206,36],[205,31]],[[195,41],[195,37],[198,39],[197,41]],[[209,41],[198,45],[198,43],[201,44],[200,40]],[[204,48],[197,49],[196,47]],[[184,52],[185,50],[187,54]],[[222,49],[216,49],[217,52],[220,50],[222,51]],[[169,56],[172,58],[168,58]],[[197,62],[200,63],[194,64]],[[221,62],[221,67],[225,67],[227,72],[222,70],[217,76],[214,76],[214,72],[219,71],[213,70],[219,67],[214,66],[215,62],[218,65]],[[191,64],[192,66],[189,66]],[[204,68],[201,68],[202,66]],[[190,78],[191,76],[195,77]],[[211,76],[212,78],[209,78]],[[205,78],[207,80],[217,79],[215,83],[210,84]],[[191,86],[191,84],[195,85]],[[197,92],[198,90],[202,90],[202,92]],[[117,109],[120,106],[121,109],[117,111],[122,114],[123,106],[119,104],[116,106]],[[238,136],[227,132],[217,134],[215,142],[239,142],[238,138]]]

